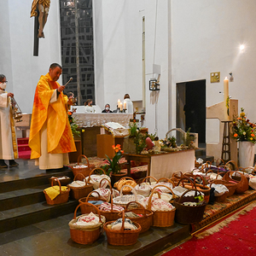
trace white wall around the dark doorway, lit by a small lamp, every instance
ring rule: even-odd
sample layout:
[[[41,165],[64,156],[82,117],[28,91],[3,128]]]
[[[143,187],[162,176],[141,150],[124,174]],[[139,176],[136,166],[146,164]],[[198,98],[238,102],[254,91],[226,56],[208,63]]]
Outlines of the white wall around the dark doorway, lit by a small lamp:
[[[232,72],[230,96],[255,121],[255,1],[172,1],[172,88],[176,83],[207,80],[207,106],[224,101],[224,78]],[[245,44],[241,52],[240,44]],[[210,73],[220,82],[210,83]],[[175,102],[175,95],[172,96]],[[176,103],[174,103],[176,104]],[[175,106],[175,105],[174,105]],[[209,130],[207,131],[214,132]],[[216,134],[207,134],[208,140]]]

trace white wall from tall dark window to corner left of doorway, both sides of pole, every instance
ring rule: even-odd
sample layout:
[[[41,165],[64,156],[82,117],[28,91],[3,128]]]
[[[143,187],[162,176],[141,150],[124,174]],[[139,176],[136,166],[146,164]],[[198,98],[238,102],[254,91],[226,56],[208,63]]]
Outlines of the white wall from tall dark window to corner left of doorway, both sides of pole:
[[[101,3],[100,3],[101,2]],[[146,119],[149,133],[168,131],[168,1],[94,1],[95,75],[97,105],[115,108],[118,99],[129,93],[132,101],[143,100],[143,16],[146,35]],[[156,34],[155,32],[156,26]],[[100,33],[100,35],[98,34]],[[100,39],[100,40],[98,40]],[[155,40],[154,40],[155,39]],[[160,92],[148,90],[153,64],[161,67]],[[102,85],[103,84],[103,85]],[[103,97],[102,97],[103,93]],[[99,102],[101,99],[103,102]],[[155,103],[157,102],[157,103]]]

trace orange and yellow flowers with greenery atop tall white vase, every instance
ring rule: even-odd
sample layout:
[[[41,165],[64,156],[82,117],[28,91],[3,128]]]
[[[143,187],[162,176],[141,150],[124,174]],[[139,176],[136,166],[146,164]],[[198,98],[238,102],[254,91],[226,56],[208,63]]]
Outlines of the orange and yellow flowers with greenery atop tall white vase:
[[[241,108],[239,117],[235,117],[233,119],[232,136],[236,139],[237,142],[256,143],[255,127],[256,125],[247,119],[247,116],[244,113],[244,109]]]

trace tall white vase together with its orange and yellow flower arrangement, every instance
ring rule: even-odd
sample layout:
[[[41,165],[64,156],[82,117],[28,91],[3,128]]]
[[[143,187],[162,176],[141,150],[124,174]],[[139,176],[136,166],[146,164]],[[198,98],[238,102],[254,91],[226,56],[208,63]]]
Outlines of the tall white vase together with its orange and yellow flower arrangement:
[[[254,144],[256,143],[255,124],[247,119],[244,108],[239,117],[234,117],[232,123],[232,137],[239,143],[239,165],[253,166]]]

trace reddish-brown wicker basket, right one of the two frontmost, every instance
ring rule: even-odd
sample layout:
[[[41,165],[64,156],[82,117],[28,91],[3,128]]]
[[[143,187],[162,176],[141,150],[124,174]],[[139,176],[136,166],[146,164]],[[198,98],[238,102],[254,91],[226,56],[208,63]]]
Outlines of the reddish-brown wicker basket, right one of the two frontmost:
[[[142,230],[140,224],[134,222],[137,226],[137,230],[125,230],[125,211],[122,213],[122,227],[121,230],[109,230],[108,224],[112,224],[113,221],[108,221],[103,225],[103,229],[106,232],[108,243],[115,246],[129,246],[137,242],[137,237],[139,236],[140,231]]]

